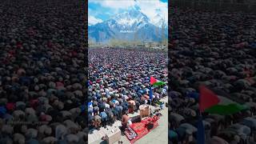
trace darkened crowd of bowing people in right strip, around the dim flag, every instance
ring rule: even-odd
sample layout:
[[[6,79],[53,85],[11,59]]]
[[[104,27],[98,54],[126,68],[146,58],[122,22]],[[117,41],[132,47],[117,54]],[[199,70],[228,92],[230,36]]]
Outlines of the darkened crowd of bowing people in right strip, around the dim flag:
[[[171,9],[169,138],[195,143],[198,86],[248,106],[237,114],[203,113],[206,143],[255,143],[256,15]]]

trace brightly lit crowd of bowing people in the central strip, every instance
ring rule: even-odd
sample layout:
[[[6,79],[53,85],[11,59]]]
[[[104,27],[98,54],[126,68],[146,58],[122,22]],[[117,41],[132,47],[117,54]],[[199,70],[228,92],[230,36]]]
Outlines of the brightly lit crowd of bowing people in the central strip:
[[[167,82],[167,54],[122,48],[88,51],[90,130],[112,125],[116,120],[126,126],[127,114],[138,111],[142,104],[162,104],[160,99],[167,96],[167,86],[152,86],[150,101],[150,76]]]

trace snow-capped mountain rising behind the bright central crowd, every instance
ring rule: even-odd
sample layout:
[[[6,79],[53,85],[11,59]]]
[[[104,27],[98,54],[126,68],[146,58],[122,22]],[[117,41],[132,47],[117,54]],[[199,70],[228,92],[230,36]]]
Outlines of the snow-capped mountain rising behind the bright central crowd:
[[[153,24],[138,6],[133,6],[109,20],[88,26],[88,37],[95,42],[109,42],[112,38],[159,42],[162,38],[160,31],[163,20],[160,17],[156,18]],[[167,38],[167,29],[165,37]]]

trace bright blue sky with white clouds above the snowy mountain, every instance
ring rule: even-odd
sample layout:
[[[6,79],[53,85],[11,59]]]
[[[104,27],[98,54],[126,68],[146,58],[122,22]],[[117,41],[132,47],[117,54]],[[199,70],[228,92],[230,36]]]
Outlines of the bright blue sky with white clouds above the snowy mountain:
[[[150,19],[154,18],[158,10],[168,18],[168,0],[88,0],[88,23],[94,25],[106,21],[135,4]]]

